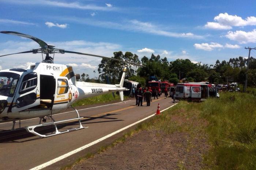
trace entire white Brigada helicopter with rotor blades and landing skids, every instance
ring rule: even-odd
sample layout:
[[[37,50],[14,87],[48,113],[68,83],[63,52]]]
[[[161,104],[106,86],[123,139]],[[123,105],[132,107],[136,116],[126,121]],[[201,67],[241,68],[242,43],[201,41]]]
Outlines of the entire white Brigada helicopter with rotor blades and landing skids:
[[[101,55],[56,49],[54,45],[48,45],[41,39],[19,32],[0,31],[0,33],[32,39],[41,47],[39,49],[19,53],[5,54],[0,57],[24,53],[41,53],[43,57],[43,54],[45,54],[45,58],[43,58],[42,62],[30,64],[27,69],[15,68],[0,70],[0,77],[2,78],[0,81],[0,119],[11,120],[13,123],[11,130],[15,130],[15,122],[17,120],[19,120],[20,126],[20,120],[39,118],[39,124],[24,128],[27,132],[42,138],[85,128],[81,124],[83,117],[80,117],[78,111],[71,106],[75,101],[112,92],[119,92],[121,101],[123,101],[123,91],[129,90],[123,88],[127,66],[124,67],[120,84],[110,85],[81,82],[76,81],[80,79],[80,75],[74,73],[72,66],[55,64],[53,62],[55,53],[89,55],[142,66]],[[53,54],[53,57],[51,57],[50,54]],[[3,79],[8,81],[5,82]],[[61,121],[55,121],[53,119],[52,115],[67,108],[75,109],[77,117]],[[52,121],[45,123],[46,119],[51,119]],[[42,121],[44,123],[42,123]],[[79,127],[62,132],[58,130],[58,124],[70,121],[79,121]],[[35,131],[37,127],[48,125],[54,125],[55,132],[52,132],[52,134],[40,134]]]

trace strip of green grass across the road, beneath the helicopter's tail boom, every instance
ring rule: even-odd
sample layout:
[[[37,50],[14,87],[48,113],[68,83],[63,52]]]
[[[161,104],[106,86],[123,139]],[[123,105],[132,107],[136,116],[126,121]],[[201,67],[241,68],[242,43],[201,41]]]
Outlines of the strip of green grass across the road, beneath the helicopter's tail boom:
[[[128,98],[128,96],[124,96],[124,99],[126,98]],[[102,95],[94,96],[90,98],[84,98],[82,100],[78,100],[75,103],[73,103],[72,107],[98,104],[98,103],[108,103],[110,101],[121,101],[120,96],[115,94],[115,97],[113,97],[112,93],[108,93],[108,94],[102,94]]]

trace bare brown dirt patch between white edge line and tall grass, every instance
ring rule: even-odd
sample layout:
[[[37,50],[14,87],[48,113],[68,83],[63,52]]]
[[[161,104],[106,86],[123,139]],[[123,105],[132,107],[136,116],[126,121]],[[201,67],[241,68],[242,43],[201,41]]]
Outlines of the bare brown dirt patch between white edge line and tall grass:
[[[178,124],[185,121],[179,116],[173,116],[173,120]],[[202,169],[203,154],[208,151],[206,140],[206,135],[197,130],[172,134],[140,131],[72,169]]]

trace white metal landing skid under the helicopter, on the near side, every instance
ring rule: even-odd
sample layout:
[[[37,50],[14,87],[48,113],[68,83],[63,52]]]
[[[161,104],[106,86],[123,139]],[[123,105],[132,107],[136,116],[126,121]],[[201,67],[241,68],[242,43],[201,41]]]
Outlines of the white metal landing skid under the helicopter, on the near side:
[[[49,123],[43,123],[43,124],[38,124],[38,125],[34,125],[34,126],[26,126],[24,127],[27,132],[31,133],[31,134],[34,134],[34,135],[37,135],[41,138],[46,138],[46,137],[50,137],[50,136],[54,136],[54,135],[59,135],[59,134],[64,134],[64,133],[67,133],[67,132],[71,132],[71,131],[76,131],[76,130],[79,130],[79,129],[83,129],[83,128],[88,128],[88,127],[83,127],[82,124],[81,124],[81,119],[83,119],[83,117],[79,117],[79,113],[78,111],[75,109],[78,117],[77,118],[74,118],[74,119],[67,119],[67,120],[61,120],[61,121],[53,121],[53,122],[49,122]],[[66,131],[63,131],[63,132],[60,132],[57,128],[57,124],[62,124],[62,123],[66,123],[66,122],[72,122],[72,121],[79,121],[79,124],[80,124],[80,127],[79,128],[73,128],[73,129],[69,129],[69,130],[66,130]],[[49,134],[49,135],[42,135],[42,134],[39,134],[38,132],[35,132],[34,129],[36,127],[42,127],[42,126],[48,126],[48,125],[54,125],[55,127],[55,133],[54,134]]]

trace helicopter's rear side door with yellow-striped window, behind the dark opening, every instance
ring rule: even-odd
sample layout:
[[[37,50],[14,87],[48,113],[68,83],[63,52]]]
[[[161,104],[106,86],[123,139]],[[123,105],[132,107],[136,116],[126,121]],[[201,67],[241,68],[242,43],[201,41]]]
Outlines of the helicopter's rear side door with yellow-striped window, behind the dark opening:
[[[67,77],[60,77],[56,81],[56,91],[54,96],[53,110],[67,108],[69,100],[69,88]]]

